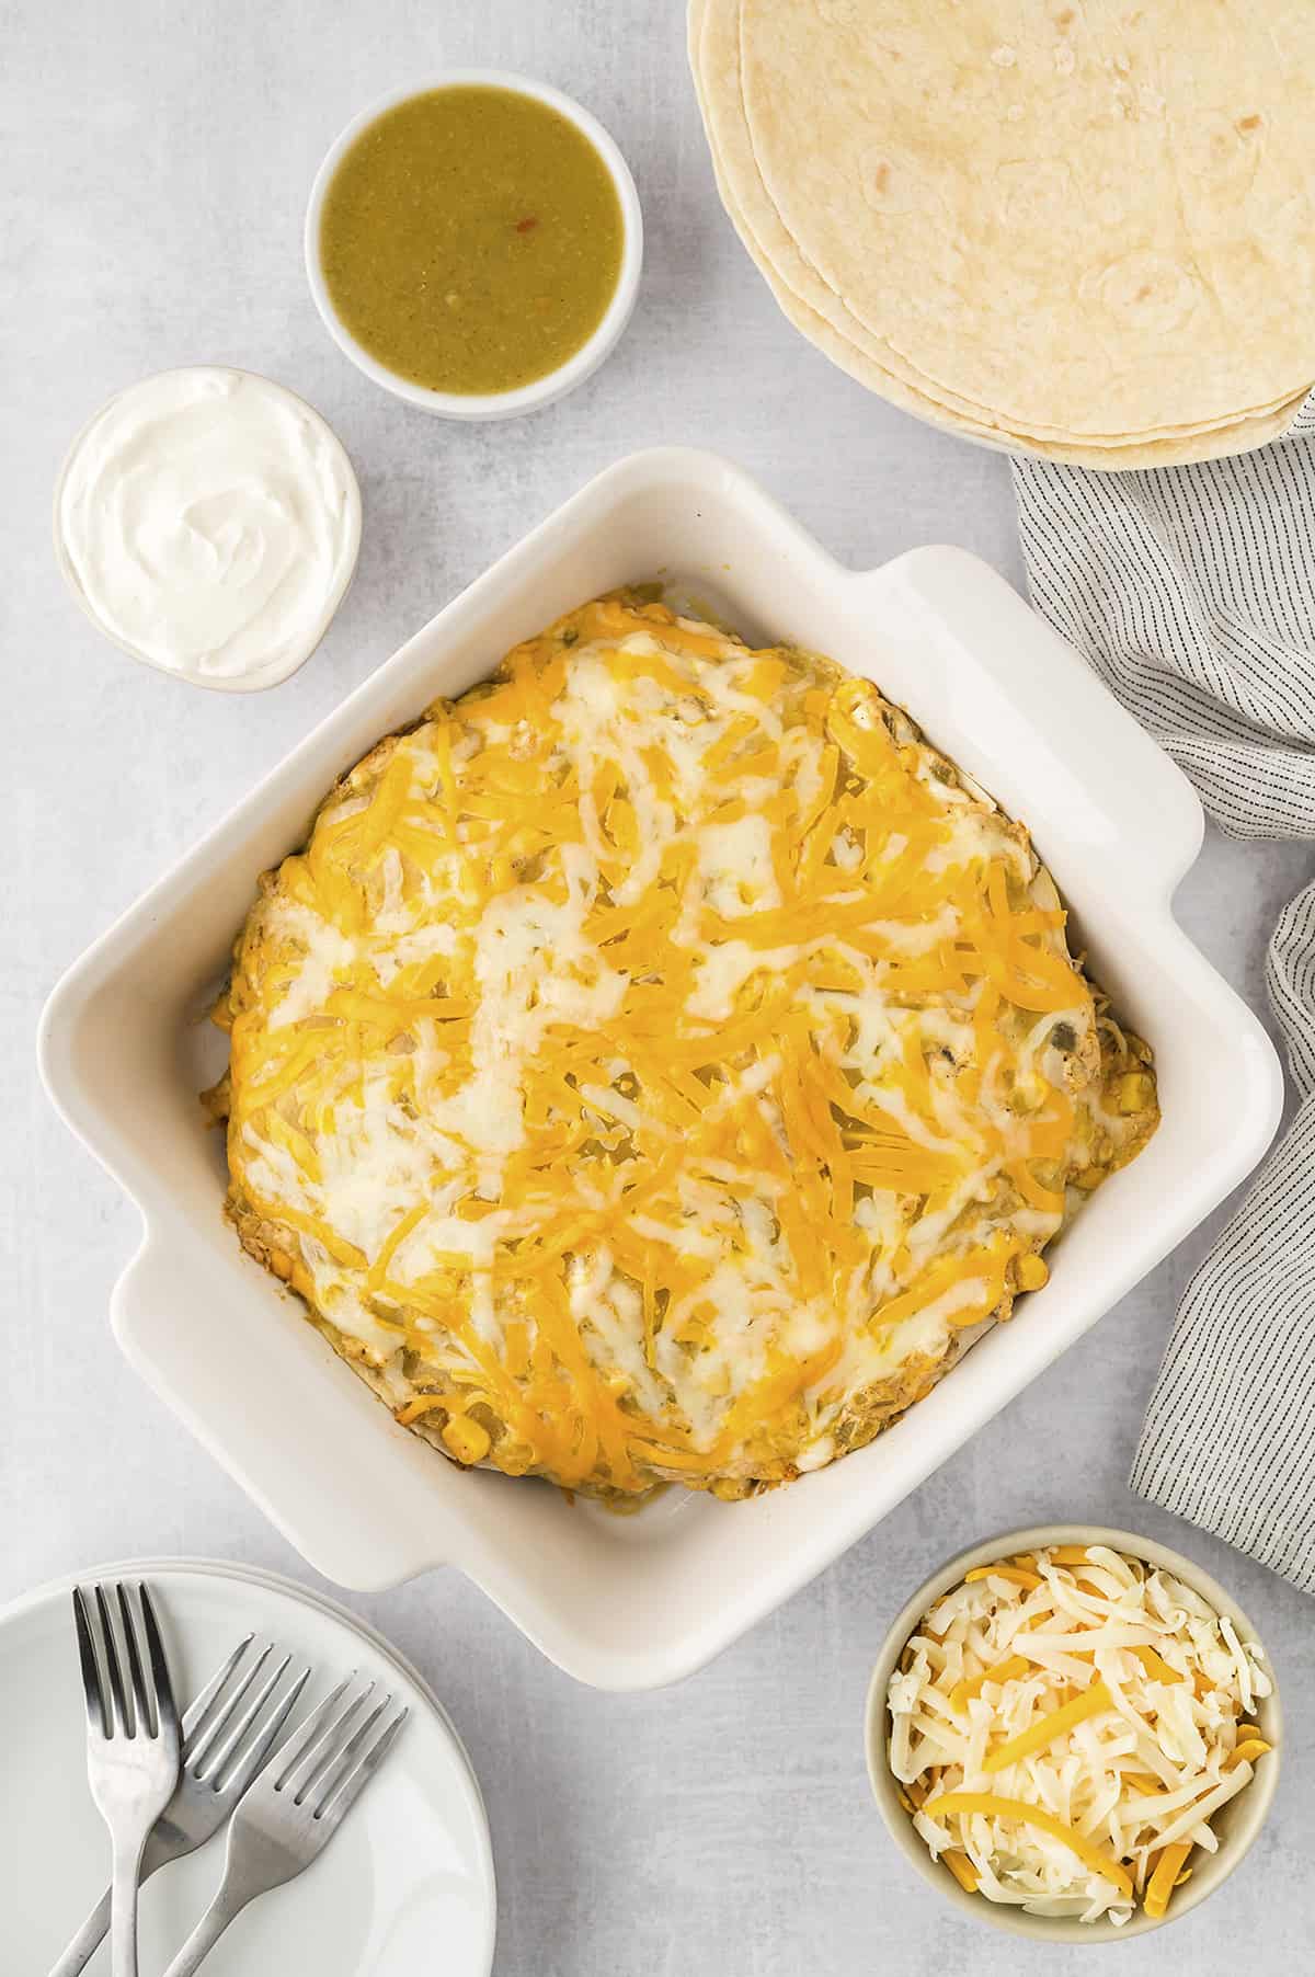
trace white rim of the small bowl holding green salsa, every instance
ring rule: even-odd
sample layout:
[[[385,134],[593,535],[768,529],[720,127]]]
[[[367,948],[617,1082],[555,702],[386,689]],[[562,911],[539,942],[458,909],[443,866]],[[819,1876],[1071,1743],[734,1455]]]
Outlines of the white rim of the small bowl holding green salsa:
[[[556,370],[544,372],[542,378],[532,378],[530,384],[516,386],[510,391],[433,391],[429,386],[413,384],[409,378],[401,378],[397,372],[388,370],[388,366],[380,364],[380,360],[374,358],[344,324],[328,295],[328,283],[324,281],[324,269],[320,265],[320,219],[324,215],[324,200],[328,196],[328,186],[332,184],[332,178],[350,146],[362,130],[368,130],[370,125],[378,123],[378,119],[390,109],[395,109],[399,103],[409,103],[413,97],[435,95],[441,89],[506,89],[512,95],[528,97],[534,103],[544,103],[548,109],[558,111],[558,115],[566,117],[566,121],[573,125],[593,146],[607,168],[607,176],[611,178],[621,206],[621,267],[601,322],[564,364],[558,364]],[[514,69],[453,67],[439,69],[421,81],[403,83],[397,89],[386,91],[342,127],[324,152],[320,168],[310,184],[303,229],[303,255],[307,263],[307,281],[310,283],[310,297],[324,328],[342,354],[348,356],[366,378],[382,386],[386,391],[392,391],[394,397],[403,399],[407,405],[417,405],[421,411],[429,411],[441,419],[514,419],[524,411],[538,411],[540,407],[566,397],[568,391],[573,391],[575,386],[585,382],[585,378],[591,378],[603,360],[611,356],[625,332],[627,322],[631,320],[635,299],[639,295],[639,277],[645,259],[645,221],[639,192],[635,190],[635,180],[625,156],[621,154],[621,146],[597,121],[597,117],[583,107],[583,103],[568,97],[564,89],[556,89],[552,83],[540,83],[536,77],[520,75]]]

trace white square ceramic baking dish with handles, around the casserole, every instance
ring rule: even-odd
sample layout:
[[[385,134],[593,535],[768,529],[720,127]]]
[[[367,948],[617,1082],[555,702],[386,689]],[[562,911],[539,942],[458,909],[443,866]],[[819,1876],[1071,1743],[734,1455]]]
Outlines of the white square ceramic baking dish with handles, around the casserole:
[[[237,1247],[196,1093],[223,1058],[200,1012],[255,878],[303,840],[338,773],[568,607],[653,577],[712,597],[745,637],[872,676],[1032,828],[1097,979],[1157,1050],[1163,1125],[1056,1246],[1046,1289],[870,1447],[751,1503],[668,1493],[617,1518],[449,1467],[392,1423]],[[985,563],[933,548],[842,569],[726,461],[633,455],[439,611],[55,988],[49,1093],[144,1220],[113,1293],[119,1340],[326,1578],[382,1588],[453,1564],[579,1680],[688,1675],[916,1489],[1264,1153],[1277,1060],[1171,909],[1200,834],[1179,769]]]

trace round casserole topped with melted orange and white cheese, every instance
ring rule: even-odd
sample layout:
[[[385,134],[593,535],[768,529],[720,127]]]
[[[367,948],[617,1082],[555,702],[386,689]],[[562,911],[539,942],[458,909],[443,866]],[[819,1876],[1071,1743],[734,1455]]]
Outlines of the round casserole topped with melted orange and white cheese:
[[[866,680],[589,603],[267,874],[229,1208],[461,1463],[744,1497],[872,1439],[1151,1135],[1024,828]]]

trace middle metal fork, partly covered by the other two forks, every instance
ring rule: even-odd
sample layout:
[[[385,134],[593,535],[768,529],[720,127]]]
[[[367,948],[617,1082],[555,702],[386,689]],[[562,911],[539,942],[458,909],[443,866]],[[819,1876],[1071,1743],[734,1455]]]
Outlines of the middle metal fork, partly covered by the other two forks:
[[[293,1665],[291,1655],[285,1655],[259,1686],[255,1684],[277,1653],[273,1641],[247,1635],[184,1712],[178,1785],[146,1841],[138,1886],[170,1860],[204,1847],[212,1833],[225,1825],[237,1799],[269,1758],[275,1738],[310,1678],[310,1669],[303,1663],[287,1694],[273,1700]],[[49,1977],[79,1977],[109,1930],[109,1910],[107,1888]]]

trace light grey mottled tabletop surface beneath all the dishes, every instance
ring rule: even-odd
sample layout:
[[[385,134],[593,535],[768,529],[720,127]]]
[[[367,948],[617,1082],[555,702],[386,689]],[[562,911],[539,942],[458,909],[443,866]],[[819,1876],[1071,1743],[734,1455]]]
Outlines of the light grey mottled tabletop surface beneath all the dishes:
[[[443,425],[374,389],[320,330],[301,269],[330,138],[441,63],[524,69],[577,95],[621,142],[645,206],[621,350],[566,403],[508,425]],[[718,447],[852,563],[957,542],[1018,581],[1008,474],[868,397],[777,314],[716,200],[678,0],[6,0],[0,130],[0,1599],[131,1552],[310,1578],[109,1336],[136,1214],[38,1085],[51,983],[350,686],[623,451]],[[83,419],[119,386],[192,362],[263,370],[308,397],[366,500],[328,643],[253,698],[121,656],[49,554],[51,482]],[[1184,925],[1258,1008],[1270,925],[1309,864],[1305,846],[1212,838],[1183,886]],[[352,1601],[415,1659],[469,1744],[498,1862],[500,1977],[1086,1969],[1082,1953],[951,1920],[888,1845],[860,1746],[868,1667],[908,1591],[993,1528],[1070,1516],[1131,1524],[1218,1574],[1264,1629],[1287,1698],[1283,1785],[1256,1852],[1208,1908],[1121,1947],[1121,1971],[1277,1977],[1305,1963],[1315,1607],[1123,1483],[1208,1236],[680,1688],[577,1688],[455,1574]],[[16,1789],[2,1771],[0,1789]],[[0,1969],[2,1932],[0,1916]]]

